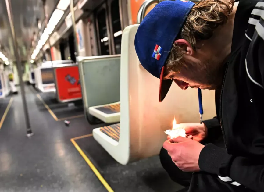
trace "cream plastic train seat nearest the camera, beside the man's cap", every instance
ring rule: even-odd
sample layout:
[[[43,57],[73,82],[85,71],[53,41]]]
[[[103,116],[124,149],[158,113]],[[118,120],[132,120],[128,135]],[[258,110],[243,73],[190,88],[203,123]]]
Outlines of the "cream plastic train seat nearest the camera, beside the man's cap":
[[[135,52],[138,26],[130,25],[122,34],[120,124],[93,130],[95,140],[123,165],[157,155],[166,140],[164,131],[172,128],[174,117],[177,123],[199,122],[197,89],[183,91],[173,84],[159,103],[159,79],[141,66]],[[214,94],[202,91],[204,119],[216,114]]]

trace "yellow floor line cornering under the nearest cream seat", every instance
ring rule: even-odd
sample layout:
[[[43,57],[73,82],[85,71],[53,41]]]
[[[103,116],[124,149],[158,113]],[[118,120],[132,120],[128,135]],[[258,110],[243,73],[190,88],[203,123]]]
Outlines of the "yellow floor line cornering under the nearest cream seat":
[[[90,166],[90,168],[93,170],[97,178],[101,181],[101,183],[105,186],[105,189],[109,192],[114,192],[112,188],[109,186],[109,184],[105,181],[103,176],[100,174],[100,172],[95,168],[95,165],[90,161],[90,159],[85,155],[85,153],[81,150],[79,145],[75,142],[77,139],[81,139],[84,137],[90,137],[92,134],[89,135],[83,135],[80,137],[75,137],[71,139],[71,142],[73,143],[74,147],[77,149],[77,151],[80,153],[80,155],[84,158],[84,160],[87,162],[87,164]]]

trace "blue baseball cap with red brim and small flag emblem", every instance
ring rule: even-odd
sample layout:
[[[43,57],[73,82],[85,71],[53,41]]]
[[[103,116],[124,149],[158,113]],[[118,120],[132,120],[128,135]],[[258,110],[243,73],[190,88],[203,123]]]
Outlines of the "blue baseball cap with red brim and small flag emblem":
[[[135,36],[141,65],[159,78],[159,102],[169,91],[171,79],[164,80],[164,65],[189,12],[195,3],[175,0],[158,3],[143,19]]]

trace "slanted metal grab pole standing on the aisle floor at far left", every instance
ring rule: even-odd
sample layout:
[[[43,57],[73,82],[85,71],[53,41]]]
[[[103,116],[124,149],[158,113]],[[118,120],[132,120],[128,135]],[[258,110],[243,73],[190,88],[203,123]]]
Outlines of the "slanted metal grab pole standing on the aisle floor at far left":
[[[32,130],[30,128],[30,121],[29,121],[29,115],[28,115],[28,109],[27,109],[27,101],[26,101],[26,97],[25,97],[25,87],[24,87],[24,82],[22,79],[22,69],[21,69],[22,64],[21,64],[21,59],[20,59],[20,53],[18,50],[18,44],[17,44],[17,39],[16,39],[16,33],[15,33],[15,26],[14,26],[14,22],[13,22],[11,0],[5,0],[5,4],[6,4],[9,23],[10,23],[10,29],[11,29],[11,33],[12,33],[12,41],[13,41],[14,53],[15,53],[16,64],[17,64],[17,69],[18,69],[19,84],[20,84],[20,88],[21,88],[21,97],[22,97],[25,122],[26,122],[26,127],[27,127],[27,137],[30,137],[33,135],[33,133],[32,133]]]

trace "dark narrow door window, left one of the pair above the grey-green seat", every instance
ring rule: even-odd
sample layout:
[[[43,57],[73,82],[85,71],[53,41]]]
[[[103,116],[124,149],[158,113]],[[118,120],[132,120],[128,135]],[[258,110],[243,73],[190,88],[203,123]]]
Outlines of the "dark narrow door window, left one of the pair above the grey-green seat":
[[[106,26],[106,10],[102,9],[97,14],[98,32],[101,47],[101,55],[109,55],[109,37]]]

